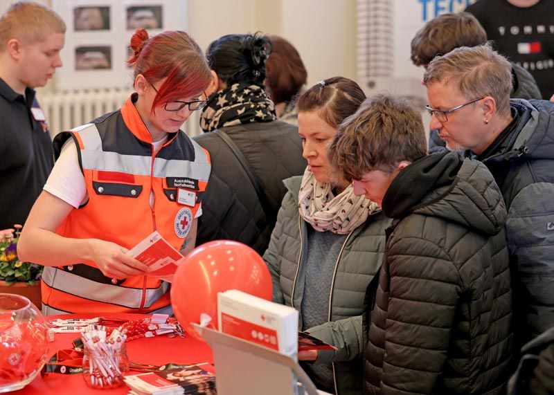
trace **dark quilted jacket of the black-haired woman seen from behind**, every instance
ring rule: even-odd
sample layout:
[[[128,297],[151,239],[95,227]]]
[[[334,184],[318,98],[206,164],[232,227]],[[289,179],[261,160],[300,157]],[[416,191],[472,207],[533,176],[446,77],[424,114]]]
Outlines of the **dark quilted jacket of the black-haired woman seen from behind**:
[[[256,190],[233,152],[212,132],[194,140],[211,156],[212,173],[202,199],[196,244],[227,239],[240,241],[262,255],[269,244],[281,200],[283,180],[303,174],[306,160],[298,128],[280,120],[222,127],[247,158],[267,200],[264,212]],[[269,216],[267,215],[269,214]]]

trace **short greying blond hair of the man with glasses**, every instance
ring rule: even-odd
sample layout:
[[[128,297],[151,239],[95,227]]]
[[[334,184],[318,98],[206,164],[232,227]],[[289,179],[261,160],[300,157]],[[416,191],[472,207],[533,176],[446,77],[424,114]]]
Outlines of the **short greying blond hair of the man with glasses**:
[[[435,57],[423,75],[423,84],[429,87],[435,82],[454,86],[467,100],[491,96],[499,116],[510,114],[512,65],[490,44],[462,46]]]

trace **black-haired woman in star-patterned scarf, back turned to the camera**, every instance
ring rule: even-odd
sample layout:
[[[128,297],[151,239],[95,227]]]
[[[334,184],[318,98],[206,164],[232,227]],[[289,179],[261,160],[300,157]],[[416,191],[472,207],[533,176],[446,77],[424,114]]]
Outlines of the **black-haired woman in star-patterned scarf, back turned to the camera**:
[[[208,133],[195,140],[210,152],[212,174],[202,200],[197,244],[230,239],[263,254],[285,196],[282,181],[306,167],[298,129],[276,120],[274,103],[265,93],[270,52],[269,39],[261,35],[226,35],[206,51],[213,80],[200,126]],[[244,156],[260,194],[215,131],[230,138]]]

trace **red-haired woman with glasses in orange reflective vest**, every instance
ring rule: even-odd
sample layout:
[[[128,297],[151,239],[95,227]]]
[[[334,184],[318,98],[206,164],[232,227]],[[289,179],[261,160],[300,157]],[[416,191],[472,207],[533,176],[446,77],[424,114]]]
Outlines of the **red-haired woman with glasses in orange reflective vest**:
[[[21,235],[21,259],[45,266],[42,306],[60,313],[170,312],[169,285],[126,255],[158,231],[186,254],[211,172],[179,129],[206,104],[206,58],[184,32],[131,39],[135,92],[118,111],[58,134],[57,161]]]

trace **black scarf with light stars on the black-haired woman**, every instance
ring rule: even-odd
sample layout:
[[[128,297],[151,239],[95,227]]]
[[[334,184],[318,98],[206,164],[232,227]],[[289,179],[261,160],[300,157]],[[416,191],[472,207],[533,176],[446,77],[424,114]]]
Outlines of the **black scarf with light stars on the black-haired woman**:
[[[200,116],[200,127],[213,131],[224,126],[276,119],[275,105],[260,86],[233,84],[210,96]]]

